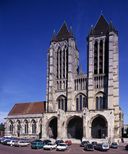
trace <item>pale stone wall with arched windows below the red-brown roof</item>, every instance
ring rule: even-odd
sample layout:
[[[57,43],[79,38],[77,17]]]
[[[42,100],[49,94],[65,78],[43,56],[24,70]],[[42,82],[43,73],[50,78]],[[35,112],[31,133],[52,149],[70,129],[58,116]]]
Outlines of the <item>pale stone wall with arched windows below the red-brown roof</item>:
[[[37,138],[41,135],[42,114],[8,116],[5,135]]]

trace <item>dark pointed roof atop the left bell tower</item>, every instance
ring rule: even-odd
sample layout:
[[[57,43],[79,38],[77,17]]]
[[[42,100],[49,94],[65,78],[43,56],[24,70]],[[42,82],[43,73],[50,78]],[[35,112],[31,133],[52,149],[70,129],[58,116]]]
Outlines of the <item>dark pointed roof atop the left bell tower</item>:
[[[64,22],[57,35],[53,33],[52,41],[63,41],[72,38],[72,32],[68,30],[67,24]]]

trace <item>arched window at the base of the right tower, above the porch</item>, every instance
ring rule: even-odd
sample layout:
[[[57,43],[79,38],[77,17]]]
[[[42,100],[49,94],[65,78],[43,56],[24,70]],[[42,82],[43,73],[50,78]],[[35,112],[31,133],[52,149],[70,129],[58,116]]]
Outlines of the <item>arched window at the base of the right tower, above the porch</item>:
[[[96,110],[107,109],[107,100],[103,93],[99,93],[96,96]]]

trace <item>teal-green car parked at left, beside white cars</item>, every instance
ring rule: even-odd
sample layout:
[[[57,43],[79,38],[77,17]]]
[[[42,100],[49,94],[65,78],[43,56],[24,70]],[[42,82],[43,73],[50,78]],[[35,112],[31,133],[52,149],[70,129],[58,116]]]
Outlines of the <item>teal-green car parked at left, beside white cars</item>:
[[[35,140],[31,143],[32,149],[41,149],[44,146],[44,142],[41,140]]]

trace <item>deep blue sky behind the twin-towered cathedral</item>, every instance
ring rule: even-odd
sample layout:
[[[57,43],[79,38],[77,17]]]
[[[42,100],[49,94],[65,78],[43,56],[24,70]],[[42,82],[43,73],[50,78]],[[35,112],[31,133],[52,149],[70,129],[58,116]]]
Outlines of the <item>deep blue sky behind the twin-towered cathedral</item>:
[[[86,37],[101,12],[119,32],[120,106],[128,123],[127,0],[0,0],[0,122],[15,103],[46,100],[47,52],[64,21],[86,73]]]

